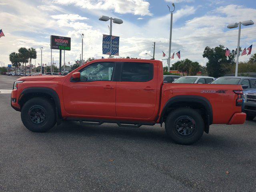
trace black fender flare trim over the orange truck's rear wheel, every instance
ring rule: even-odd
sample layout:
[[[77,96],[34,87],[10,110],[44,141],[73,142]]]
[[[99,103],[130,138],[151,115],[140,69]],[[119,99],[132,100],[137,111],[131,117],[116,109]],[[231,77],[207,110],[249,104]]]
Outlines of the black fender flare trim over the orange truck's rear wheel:
[[[212,114],[212,105],[210,104],[210,101],[202,96],[195,96],[195,95],[181,95],[181,96],[174,96],[170,98],[164,105],[164,108],[160,116],[160,123],[163,122],[164,113],[166,112],[167,108],[176,102],[193,102],[193,103],[202,104],[205,107],[207,112],[208,124],[209,125],[212,124],[213,114]]]

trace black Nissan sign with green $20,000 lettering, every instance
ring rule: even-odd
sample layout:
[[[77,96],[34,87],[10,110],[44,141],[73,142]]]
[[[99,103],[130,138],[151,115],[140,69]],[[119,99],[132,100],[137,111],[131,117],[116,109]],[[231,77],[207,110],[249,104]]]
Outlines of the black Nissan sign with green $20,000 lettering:
[[[51,49],[70,51],[71,38],[51,35]]]

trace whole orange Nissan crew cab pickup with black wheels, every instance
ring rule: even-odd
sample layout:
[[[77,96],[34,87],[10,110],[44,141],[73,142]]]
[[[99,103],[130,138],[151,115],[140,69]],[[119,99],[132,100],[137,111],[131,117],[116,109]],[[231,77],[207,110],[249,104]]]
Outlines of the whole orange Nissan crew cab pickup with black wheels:
[[[178,144],[192,144],[211,124],[243,124],[241,85],[163,83],[158,60],[100,59],[66,76],[14,82],[12,107],[33,132],[62,120],[135,127],[164,123]]]

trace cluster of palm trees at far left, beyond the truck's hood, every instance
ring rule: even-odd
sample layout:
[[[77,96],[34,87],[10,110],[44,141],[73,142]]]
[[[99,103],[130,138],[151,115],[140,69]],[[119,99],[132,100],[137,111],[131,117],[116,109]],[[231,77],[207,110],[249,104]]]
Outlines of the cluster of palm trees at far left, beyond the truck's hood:
[[[36,59],[36,49],[34,48],[25,48],[25,47],[21,47],[18,50],[18,53],[16,52],[12,52],[9,55],[9,59],[10,62],[12,63],[12,66],[15,67],[15,73],[18,73],[18,68],[21,66],[22,64],[22,72],[24,73],[24,64],[25,64],[25,75],[26,75],[26,64],[29,62],[29,70],[31,73],[31,61],[32,59]]]

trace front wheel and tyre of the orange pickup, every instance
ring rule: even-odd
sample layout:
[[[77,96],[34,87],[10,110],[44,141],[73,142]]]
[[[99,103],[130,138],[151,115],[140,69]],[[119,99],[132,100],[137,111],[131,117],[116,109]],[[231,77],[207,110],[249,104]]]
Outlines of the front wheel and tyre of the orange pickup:
[[[21,120],[32,132],[46,132],[56,124],[53,104],[46,98],[32,98],[22,107]]]

